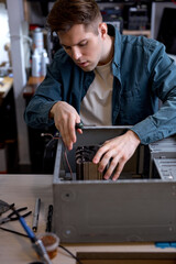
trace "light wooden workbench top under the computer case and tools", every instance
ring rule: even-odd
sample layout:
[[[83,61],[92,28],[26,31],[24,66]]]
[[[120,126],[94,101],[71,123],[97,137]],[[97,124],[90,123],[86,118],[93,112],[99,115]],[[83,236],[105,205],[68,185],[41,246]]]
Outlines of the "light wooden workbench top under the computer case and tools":
[[[42,233],[45,231],[47,207],[53,202],[52,180],[52,175],[0,175],[0,199],[9,204],[15,202],[16,208],[28,206],[28,209],[33,211],[35,199],[40,197],[42,205],[37,233]],[[32,216],[25,220],[32,227]],[[25,233],[19,222],[6,223],[2,227]],[[69,244],[65,246],[82,260],[88,258],[81,261],[84,264],[176,263],[176,249],[162,250],[155,248],[153,243]],[[153,258],[156,260],[153,261]],[[36,260],[29,239],[0,230],[0,263],[29,264]],[[58,249],[58,254],[53,260],[53,264],[56,263],[75,264],[76,261]]]

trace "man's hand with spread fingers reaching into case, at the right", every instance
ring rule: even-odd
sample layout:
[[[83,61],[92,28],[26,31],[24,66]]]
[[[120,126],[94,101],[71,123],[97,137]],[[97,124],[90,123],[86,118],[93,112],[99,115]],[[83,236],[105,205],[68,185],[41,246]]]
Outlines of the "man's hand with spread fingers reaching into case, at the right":
[[[95,164],[99,163],[99,172],[103,172],[110,162],[110,166],[105,174],[105,179],[109,179],[114,170],[112,179],[116,180],[120,176],[124,164],[133,155],[139,144],[139,136],[133,131],[129,130],[123,135],[106,141],[96,153],[92,162]]]

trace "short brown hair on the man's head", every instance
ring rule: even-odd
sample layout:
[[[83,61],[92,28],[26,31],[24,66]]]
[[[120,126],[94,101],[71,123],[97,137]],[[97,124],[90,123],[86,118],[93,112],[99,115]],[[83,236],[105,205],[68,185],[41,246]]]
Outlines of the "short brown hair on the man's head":
[[[57,0],[47,16],[47,28],[52,32],[67,32],[74,24],[84,24],[98,33],[95,25],[99,21],[102,16],[95,0]]]

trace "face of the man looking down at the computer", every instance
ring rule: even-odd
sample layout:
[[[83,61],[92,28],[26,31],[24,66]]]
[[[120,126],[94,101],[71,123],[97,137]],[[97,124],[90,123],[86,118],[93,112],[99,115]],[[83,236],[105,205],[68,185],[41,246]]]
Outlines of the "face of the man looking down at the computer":
[[[100,26],[97,35],[91,26],[75,24],[66,33],[58,32],[58,37],[65,52],[82,70],[92,70],[101,63],[103,37]]]

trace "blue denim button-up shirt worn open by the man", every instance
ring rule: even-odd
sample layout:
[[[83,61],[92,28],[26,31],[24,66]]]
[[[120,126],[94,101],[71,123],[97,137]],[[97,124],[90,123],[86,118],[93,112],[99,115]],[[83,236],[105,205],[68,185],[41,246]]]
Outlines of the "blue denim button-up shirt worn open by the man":
[[[114,35],[112,124],[132,125],[142,144],[176,133],[176,65],[164,45],[144,36],[121,35],[114,28],[109,28],[109,34]],[[59,50],[25,110],[25,122],[38,129],[52,125],[48,112],[59,100],[79,112],[94,78],[94,72],[84,72]],[[158,98],[163,101],[160,110]]]

